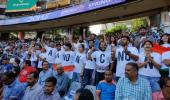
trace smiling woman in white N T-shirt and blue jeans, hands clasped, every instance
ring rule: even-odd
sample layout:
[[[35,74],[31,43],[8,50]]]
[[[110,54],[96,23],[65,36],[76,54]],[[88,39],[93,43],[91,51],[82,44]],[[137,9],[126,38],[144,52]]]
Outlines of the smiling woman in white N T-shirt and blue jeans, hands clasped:
[[[159,69],[161,67],[161,56],[152,52],[151,41],[144,42],[144,52],[139,55],[139,75],[150,82],[152,93],[159,92],[158,81],[160,79]]]

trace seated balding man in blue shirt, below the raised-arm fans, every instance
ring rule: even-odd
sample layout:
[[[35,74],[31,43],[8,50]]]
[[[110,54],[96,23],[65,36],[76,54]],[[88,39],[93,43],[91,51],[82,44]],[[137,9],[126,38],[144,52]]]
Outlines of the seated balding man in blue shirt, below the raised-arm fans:
[[[69,77],[64,73],[64,68],[61,66],[57,67],[57,74],[55,75],[57,79],[57,90],[61,97],[67,92],[67,87],[69,83]]]

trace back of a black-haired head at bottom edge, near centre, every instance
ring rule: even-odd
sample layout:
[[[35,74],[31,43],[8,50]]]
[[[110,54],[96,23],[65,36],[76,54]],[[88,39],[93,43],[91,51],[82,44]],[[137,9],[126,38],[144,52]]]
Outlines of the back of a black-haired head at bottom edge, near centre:
[[[92,92],[88,89],[80,88],[76,91],[79,94],[78,100],[94,100]]]

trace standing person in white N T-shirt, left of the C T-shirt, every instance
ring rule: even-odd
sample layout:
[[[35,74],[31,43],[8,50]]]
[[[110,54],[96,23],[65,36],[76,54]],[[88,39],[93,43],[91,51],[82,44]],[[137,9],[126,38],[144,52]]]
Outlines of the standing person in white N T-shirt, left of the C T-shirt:
[[[74,72],[73,72],[73,81],[82,82],[83,77],[83,68],[86,62],[86,54],[85,54],[85,46],[84,44],[80,44],[78,46],[78,52],[76,53],[74,60]]]

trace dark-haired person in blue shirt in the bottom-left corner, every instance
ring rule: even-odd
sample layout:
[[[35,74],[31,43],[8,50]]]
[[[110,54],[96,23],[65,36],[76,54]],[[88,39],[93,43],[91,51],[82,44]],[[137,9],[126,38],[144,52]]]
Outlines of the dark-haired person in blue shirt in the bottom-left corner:
[[[6,72],[3,75],[4,90],[2,100],[21,100],[26,88],[20,83],[13,72]]]

